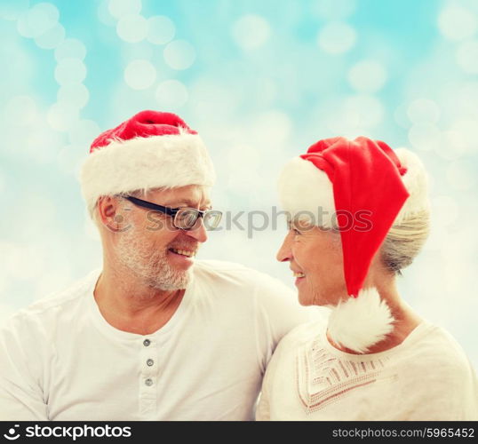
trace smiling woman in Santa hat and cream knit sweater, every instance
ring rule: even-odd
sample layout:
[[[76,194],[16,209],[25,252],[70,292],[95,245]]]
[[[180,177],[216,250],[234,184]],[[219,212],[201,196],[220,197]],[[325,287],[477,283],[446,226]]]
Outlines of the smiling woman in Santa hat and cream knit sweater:
[[[331,308],[293,329],[264,379],[258,420],[476,420],[478,381],[445,330],[400,297],[395,277],[426,241],[426,172],[406,149],[320,140],[279,181],[302,305]]]

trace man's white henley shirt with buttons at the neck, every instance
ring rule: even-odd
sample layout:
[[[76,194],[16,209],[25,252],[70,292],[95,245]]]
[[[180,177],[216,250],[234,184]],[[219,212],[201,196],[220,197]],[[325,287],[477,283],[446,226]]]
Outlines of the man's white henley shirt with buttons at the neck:
[[[0,329],[0,419],[253,419],[275,345],[309,314],[244,266],[196,260],[193,274],[171,320],[147,336],[102,317],[100,270],[13,315]]]

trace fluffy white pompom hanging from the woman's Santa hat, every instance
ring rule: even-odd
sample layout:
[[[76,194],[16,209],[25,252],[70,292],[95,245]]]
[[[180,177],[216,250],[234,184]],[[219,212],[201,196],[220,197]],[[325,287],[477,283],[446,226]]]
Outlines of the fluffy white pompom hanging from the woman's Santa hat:
[[[336,344],[366,353],[394,329],[394,317],[377,289],[361,289],[358,297],[332,307],[327,329]]]

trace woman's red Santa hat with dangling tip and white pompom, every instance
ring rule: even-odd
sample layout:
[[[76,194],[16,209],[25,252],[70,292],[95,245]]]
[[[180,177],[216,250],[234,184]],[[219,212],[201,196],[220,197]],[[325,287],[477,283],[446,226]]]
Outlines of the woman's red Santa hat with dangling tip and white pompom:
[[[377,289],[362,289],[363,281],[390,227],[428,209],[422,163],[409,150],[394,151],[381,141],[323,139],[286,164],[279,194],[292,217],[306,211],[316,217],[322,210],[315,225],[339,227],[350,297],[333,307],[328,330],[336,343],[366,352],[393,330],[394,318]],[[348,225],[364,210],[370,229],[362,222]]]

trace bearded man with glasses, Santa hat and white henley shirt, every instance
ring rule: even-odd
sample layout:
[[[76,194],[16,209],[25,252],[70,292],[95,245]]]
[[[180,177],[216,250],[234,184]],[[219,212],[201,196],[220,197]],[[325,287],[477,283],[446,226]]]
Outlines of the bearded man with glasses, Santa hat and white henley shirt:
[[[0,330],[2,420],[249,420],[275,345],[305,314],[278,281],[198,261],[211,160],[177,115],[92,144],[82,191],[102,270]]]

